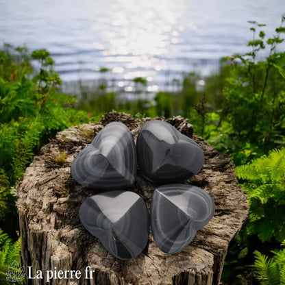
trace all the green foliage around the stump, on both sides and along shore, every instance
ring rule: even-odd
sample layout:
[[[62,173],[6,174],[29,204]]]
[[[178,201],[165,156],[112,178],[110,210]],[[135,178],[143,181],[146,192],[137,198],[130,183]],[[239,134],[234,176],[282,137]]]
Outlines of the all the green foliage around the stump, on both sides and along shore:
[[[112,86],[103,77],[97,88],[88,90],[81,84],[77,108],[85,112],[73,108],[74,97],[58,92],[61,80],[48,51],[29,55],[25,48],[5,45],[0,51],[0,221],[5,232],[11,235],[16,228],[5,222],[8,216],[9,221],[16,221],[11,219],[16,216],[14,184],[40,146],[58,130],[112,110],[140,116],[180,114],[190,119],[197,134],[234,159],[249,195],[249,221],[230,247],[223,284],[226,280],[240,284],[249,271],[246,264],[253,264],[256,249],[254,268],[261,284],[284,284],[284,250],[274,251],[273,258],[262,254],[279,248],[285,238],[285,52],[277,51],[284,41],[284,21],[282,17],[271,38],[262,30],[264,24],[250,21],[253,37],[247,53],[224,58],[219,74],[205,81],[190,73],[179,89],[179,80],[173,80],[173,92],[158,92],[153,100],[148,99],[147,80],[141,77],[132,82],[133,91],[145,96],[134,101],[109,92]],[[267,57],[262,59],[260,53]],[[38,71],[32,62],[39,66]],[[102,68],[102,76],[108,71]],[[7,251],[3,245],[1,252]]]

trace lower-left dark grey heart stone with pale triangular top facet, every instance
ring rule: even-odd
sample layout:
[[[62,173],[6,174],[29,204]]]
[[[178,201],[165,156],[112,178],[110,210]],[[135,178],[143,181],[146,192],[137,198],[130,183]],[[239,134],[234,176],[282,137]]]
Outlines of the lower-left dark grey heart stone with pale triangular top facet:
[[[79,209],[82,224],[116,258],[130,260],[149,240],[149,212],[136,193],[108,191],[87,198]]]

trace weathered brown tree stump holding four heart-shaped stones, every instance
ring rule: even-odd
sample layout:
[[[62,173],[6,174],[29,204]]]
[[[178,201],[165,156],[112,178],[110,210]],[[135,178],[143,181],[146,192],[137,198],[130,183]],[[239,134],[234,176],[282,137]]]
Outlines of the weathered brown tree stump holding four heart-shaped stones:
[[[17,186],[23,265],[26,269],[32,267],[33,275],[38,270],[45,275],[56,267],[79,270],[82,277],[53,278],[47,283],[44,276],[42,280],[27,280],[27,284],[219,284],[227,247],[247,218],[247,197],[237,186],[232,160],[193,135],[193,127],[181,116],[165,121],[193,136],[205,153],[203,169],[187,182],[207,190],[216,205],[213,219],[197,232],[193,242],[171,256],[158,249],[150,234],[145,252],[134,260],[122,261],[108,253],[79,221],[79,206],[97,192],[73,180],[70,167],[74,158],[107,123],[125,123],[136,140],[140,126],[147,120],[109,113],[99,123],[59,132],[55,140],[42,147],[40,156],[34,157]],[[132,190],[145,199],[148,207],[155,188],[138,171]],[[92,279],[84,279],[88,266],[94,270]]]

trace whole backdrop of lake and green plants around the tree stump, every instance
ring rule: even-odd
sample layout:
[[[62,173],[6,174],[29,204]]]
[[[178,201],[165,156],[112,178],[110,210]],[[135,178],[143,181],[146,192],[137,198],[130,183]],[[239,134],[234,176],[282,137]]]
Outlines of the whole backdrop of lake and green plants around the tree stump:
[[[285,284],[284,26],[284,0],[0,0],[0,284],[25,169],[114,110],[184,116],[232,158],[250,209],[221,284]]]

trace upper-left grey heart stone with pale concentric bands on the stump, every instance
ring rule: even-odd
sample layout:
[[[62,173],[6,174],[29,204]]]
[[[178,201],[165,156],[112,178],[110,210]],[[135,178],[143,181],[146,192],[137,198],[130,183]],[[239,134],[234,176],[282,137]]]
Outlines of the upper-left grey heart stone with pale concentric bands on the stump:
[[[71,165],[81,185],[99,190],[132,186],[136,177],[136,146],[129,129],[119,122],[106,125]]]

